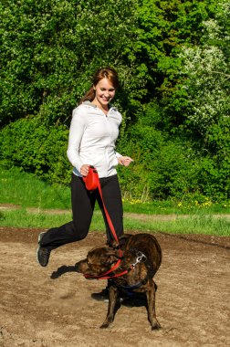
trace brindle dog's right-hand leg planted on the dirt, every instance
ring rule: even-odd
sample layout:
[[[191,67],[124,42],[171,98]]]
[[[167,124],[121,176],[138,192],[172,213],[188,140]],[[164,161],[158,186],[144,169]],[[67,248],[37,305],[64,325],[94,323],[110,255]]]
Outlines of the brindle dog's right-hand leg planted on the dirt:
[[[156,319],[155,310],[155,297],[156,297],[156,287],[153,279],[149,281],[149,288],[146,291],[147,303],[148,303],[148,319],[152,326],[152,331],[154,329],[160,329],[161,324]]]

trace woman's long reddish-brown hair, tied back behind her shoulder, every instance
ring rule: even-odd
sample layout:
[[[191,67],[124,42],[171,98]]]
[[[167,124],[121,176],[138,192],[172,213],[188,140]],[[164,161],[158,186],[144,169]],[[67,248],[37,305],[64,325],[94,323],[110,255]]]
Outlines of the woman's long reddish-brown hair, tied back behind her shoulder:
[[[97,86],[97,84],[99,83],[101,79],[109,79],[110,83],[113,85],[115,89],[119,87],[118,73],[114,68],[110,68],[110,67],[99,68],[93,76],[91,87],[83,96],[83,98],[79,100],[78,105],[80,105],[82,102],[86,100],[89,100],[89,101],[94,100],[95,98],[94,87]]]

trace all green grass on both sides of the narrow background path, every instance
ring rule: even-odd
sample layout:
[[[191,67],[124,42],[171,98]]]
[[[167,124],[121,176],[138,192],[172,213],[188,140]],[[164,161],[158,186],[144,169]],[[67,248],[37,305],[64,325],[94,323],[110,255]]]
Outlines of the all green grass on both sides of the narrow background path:
[[[21,206],[17,210],[0,213],[0,226],[41,227],[60,226],[71,220],[71,214],[46,214],[44,209],[70,210],[70,190],[68,187],[51,185],[39,181],[33,174],[21,172],[18,168],[0,172],[0,204]],[[172,233],[193,233],[229,236],[230,205],[212,205],[208,200],[203,203],[188,204],[174,201],[156,201],[141,204],[138,200],[124,201],[124,212],[146,215],[170,215],[173,220],[146,220],[124,218],[125,230],[164,231]],[[26,208],[35,207],[37,213],[28,212]],[[222,217],[215,217],[214,214]],[[181,215],[187,215],[184,218]],[[105,226],[98,207],[96,208],[90,230],[104,230]]]

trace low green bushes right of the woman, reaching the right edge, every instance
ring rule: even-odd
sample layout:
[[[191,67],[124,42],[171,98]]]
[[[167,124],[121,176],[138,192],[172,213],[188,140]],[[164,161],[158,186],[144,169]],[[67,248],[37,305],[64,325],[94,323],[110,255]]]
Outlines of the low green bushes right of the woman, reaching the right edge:
[[[131,142],[122,144],[122,150],[134,159],[131,167],[120,169],[124,196],[141,202],[168,197],[190,200],[191,196],[226,201],[230,191],[229,119],[225,125],[210,128],[208,152],[197,152],[193,142],[158,127],[162,127],[162,113],[152,104],[130,128]]]

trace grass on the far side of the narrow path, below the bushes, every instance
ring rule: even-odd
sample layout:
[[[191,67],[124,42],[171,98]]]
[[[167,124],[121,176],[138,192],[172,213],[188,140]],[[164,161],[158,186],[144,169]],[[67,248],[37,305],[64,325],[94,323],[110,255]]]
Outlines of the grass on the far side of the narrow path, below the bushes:
[[[70,189],[59,184],[47,184],[33,174],[22,172],[18,167],[5,170],[0,163],[0,204],[15,204],[37,209],[70,209]],[[146,215],[230,213],[230,204],[212,204],[204,201],[153,201],[141,203],[139,200],[124,200],[125,212]],[[98,206],[97,206],[98,209]]]

